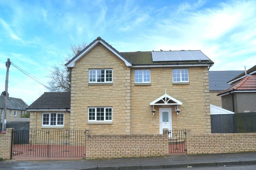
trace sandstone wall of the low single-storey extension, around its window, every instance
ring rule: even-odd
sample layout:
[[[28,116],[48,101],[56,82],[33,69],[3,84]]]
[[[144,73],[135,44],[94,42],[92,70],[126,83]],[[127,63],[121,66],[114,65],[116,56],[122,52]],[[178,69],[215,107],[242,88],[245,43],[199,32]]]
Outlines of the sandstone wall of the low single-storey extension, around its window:
[[[64,113],[64,127],[42,127],[42,113]],[[70,113],[66,111],[30,111],[30,123],[31,129],[69,129]]]

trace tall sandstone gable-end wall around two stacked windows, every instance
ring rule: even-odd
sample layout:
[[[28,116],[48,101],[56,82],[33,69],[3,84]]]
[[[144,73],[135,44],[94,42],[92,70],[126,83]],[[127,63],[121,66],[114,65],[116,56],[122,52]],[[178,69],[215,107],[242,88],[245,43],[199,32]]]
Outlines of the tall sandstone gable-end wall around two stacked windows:
[[[89,69],[113,69],[112,84],[89,85]],[[72,68],[70,128],[93,134],[131,133],[130,68],[104,45],[98,44]],[[88,107],[112,107],[113,122],[88,123]]]

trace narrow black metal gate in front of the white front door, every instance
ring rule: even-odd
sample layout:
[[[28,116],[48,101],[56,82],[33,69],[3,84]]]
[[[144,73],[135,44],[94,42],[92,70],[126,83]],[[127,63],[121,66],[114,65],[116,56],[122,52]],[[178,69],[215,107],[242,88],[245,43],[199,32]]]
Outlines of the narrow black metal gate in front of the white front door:
[[[186,130],[169,130],[169,153],[186,152]]]

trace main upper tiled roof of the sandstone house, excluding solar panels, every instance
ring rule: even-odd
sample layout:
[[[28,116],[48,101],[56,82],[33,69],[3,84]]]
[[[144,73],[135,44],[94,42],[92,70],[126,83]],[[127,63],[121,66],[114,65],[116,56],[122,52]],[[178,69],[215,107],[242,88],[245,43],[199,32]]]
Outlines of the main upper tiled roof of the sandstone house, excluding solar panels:
[[[75,57],[73,57],[69,62],[67,62],[65,65],[67,67],[73,67],[76,62],[76,60],[79,60],[87,51],[89,51],[92,47],[94,47],[97,43],[102,43],[110,49],[112,52],[117,55],[117,57],[121,58],[123,61],[125,61],[127,66],[138,66],[138,65],[179,65],[179,64],[214,64],[212,60],[178,60],[178,61],[157,61],[153,62],[152,59],[152,51],[137,51],[137,52],[119,52],[114,47],[112,47],[110,44],[108,44],[105,40],[98,37],[93,42],[91,42],[87,47],[85,47],[80,53],[78,53]],[[193,50],[188,50],[193,51]],[[194,50],[194,51],[200,51],[200,50]],[[154,52],[169,52],[169,51],[154,51]],[[175,51],[173,51],[175,52]],[[182,51],[176,51],[177,53],[184,53],[185,50]],[[200,51],[200,53],[202,53]],[[129,65],[130,64],[130,65]]]

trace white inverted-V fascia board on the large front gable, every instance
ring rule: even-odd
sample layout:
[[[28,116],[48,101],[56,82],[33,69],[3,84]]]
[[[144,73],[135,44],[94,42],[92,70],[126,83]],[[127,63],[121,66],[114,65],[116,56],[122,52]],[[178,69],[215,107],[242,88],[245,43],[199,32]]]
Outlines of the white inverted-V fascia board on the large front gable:
[[[106,43],[102,42],[101,40],[97,40],[94,42],[90,47],[88,47],[83,53],[81,53],[79,56],[77,56],[73,61],[71,61],[69,64],[67,64],[67,67],[75,67],[75,62],[77,60],[81,59],[86,53],[88,53],[93,47],[95,47],[98,43],[101,43],[104,45],[107,49],[109,49],[112,53],[114,53],[117,57],[119,57],[123,62],[125,62],[126,66],[131,66],[131,63],[129,63],[127,60],[125,60],[121,55],[116,53],[112,48],[110,48]]]

